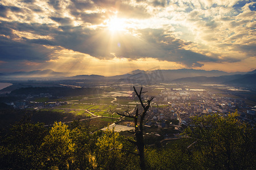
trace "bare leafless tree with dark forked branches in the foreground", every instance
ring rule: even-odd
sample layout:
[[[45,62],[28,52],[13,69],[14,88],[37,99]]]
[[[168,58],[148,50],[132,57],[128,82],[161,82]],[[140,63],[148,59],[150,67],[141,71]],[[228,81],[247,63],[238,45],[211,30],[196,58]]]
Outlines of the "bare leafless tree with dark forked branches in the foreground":
[[[133,89],[134,89],[137,97],[139,98],[139,101],[141,102],[143,112],[139,114],[139,109],[137,107],[136,113],[134,116],[131,116],[129,112],[125,112],[123,114],[117,112],[117,114],[119,114],[120,116],[124,116],[124,117],[134,118],[134,128],[135,128],[134,135],[135,135],[136,141],[129,140],[129,142],[136,145],[138,154],[137,153],[134,153],[134,154],[139,155],[140,166],[141,166],[141,169],[144,170],[144,169],[146,169],[146,164],[145,164],[145,156],[144,156],[143,120],[147,114],[148,108],[150,108],[150,102],[154,99],[154,97],[151,97],[150,100],[147,100],[147,104],[144,104],[142,101],[141,95],[145,92],[142,92],[142,87],[141,87],[141,91],[139,92],[139,94],[134,86],[133,86]],[[138,121],[139,121],[139,125],[138,125]]]

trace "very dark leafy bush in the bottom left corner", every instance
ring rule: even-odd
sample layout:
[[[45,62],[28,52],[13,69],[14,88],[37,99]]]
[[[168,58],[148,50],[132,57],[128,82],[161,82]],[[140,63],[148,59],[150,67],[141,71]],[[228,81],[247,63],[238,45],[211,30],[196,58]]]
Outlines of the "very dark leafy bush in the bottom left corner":
[[[44,124],[22,120],[2,131],[0,142],[0,169],[32,169],[39,165],[39,147],[47,130]]]

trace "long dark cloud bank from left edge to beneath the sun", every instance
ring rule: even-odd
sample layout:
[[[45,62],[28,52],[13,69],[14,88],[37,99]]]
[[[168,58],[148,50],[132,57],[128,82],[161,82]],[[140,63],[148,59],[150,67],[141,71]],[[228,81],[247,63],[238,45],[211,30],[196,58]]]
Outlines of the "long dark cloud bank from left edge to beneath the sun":
[[[2,24],[2,25],[1,25]],[[184,46],[189,42],[175,39],[170,36],[171,32],[163,29],[138,29],[141,36],[135,37],[126,33],[117,33],[112,36],[104,29],[89,29],[82,26],[73,27],[64,25],[54,28],[51,24],[26,24],[26,23],[1,23],[1,28],[6,28],[6,35],[14,37],[12,28],[19,31],[31,32],[37,35],[51,36],[51,40],[25,39],[14,41],[2,40],[1,56],[7,59],[42,60],[47,61],[53,50],[43,45],[62,46],[76,52],[89,54],[100,59],[126,57],[130,59],[152,57],[162,61],[180,62],[188,67],[201,66],[201,62],[217,62],[200,53],[185,50]],[[0,29],[1,30],[1,29]],[[113,55],[114,53],[114,55]],[[3,60],[3,59],[2,59]]]

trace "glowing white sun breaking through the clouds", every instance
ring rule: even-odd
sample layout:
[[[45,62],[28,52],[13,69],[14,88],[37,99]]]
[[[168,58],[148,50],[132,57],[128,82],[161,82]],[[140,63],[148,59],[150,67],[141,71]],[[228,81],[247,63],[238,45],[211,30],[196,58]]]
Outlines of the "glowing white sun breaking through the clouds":
[[[111,32],[123,31],[126,26],[125,20],[121,18],[112,18],[108,22],[108,28]]]

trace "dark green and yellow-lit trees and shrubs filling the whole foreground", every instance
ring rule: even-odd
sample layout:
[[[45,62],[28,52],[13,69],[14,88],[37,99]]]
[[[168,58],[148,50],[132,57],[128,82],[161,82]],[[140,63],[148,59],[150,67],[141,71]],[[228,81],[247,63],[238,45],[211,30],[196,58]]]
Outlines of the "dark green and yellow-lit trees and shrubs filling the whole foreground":
[[[184,138],[145,146],[146,169],[254,169],[255,130],[237,116],[193,117]],[[112,129],[91,133],[92,121],[47,128],[25,117],[1,129],[0,169],[140,169],[134,145]]]

